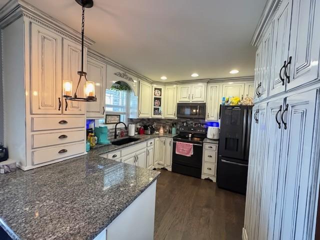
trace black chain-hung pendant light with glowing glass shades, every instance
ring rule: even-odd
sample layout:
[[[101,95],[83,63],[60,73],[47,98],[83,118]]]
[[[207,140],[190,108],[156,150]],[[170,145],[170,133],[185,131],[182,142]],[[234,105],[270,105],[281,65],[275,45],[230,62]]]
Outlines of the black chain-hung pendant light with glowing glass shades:
[[[63,97],[72,101],[96,101],[94,82],[88,81],[86,72],[83,71],[83,39],[84,39],[84,9],[93,6],[93,0],[75,0],[82,6],[82,25],[81,25],[81,70],[77,72],[79,81],[76,85],[75,92],[72,95],[72,82],[70,80],[63,81]],[[85,83],[83,87],[83,97],[78,97],[76,92],[79,88],[81,78],[84,77]]]

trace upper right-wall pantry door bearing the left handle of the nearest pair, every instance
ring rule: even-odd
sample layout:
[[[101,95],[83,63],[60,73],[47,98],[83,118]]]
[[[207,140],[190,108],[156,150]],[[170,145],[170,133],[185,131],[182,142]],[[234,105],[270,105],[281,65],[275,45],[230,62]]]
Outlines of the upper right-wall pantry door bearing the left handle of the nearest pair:
[[[282,66],[284,65],[284,61],[287,61],[289,52],[291,6],[292,0],[282,1],[273,20],[270,96],[285,91],[285,76]]]

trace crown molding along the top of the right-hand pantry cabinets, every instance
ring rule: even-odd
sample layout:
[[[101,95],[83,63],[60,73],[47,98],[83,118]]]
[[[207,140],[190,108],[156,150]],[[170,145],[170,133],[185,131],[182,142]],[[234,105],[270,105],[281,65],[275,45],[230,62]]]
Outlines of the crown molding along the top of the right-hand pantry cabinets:
[[[263,36],[263,33],[266,29],[266,27],[269,25],[269,23],[272,21],[276,11],[278,10],[282,0],[268,0],[265,3],[262,15],[259,19],[259,22],[254,30],[252,39],[251,39],[251,45],[257,46],[260,42],[261,36]]]

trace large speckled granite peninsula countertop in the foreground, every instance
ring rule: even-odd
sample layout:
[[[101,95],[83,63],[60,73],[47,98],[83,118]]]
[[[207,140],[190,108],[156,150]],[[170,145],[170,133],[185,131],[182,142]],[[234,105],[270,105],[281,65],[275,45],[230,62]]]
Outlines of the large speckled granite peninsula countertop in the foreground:
[[[94,150],[0,174],[0,226],[12,239],[93,239],[159,174]]]

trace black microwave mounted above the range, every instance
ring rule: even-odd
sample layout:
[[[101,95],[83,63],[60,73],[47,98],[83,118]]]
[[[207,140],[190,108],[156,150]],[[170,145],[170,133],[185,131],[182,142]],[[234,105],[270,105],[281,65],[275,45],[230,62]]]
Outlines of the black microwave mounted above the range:
[[[177,103],[176,116],[205,119],[205,103]]]

